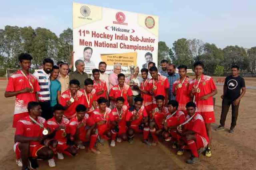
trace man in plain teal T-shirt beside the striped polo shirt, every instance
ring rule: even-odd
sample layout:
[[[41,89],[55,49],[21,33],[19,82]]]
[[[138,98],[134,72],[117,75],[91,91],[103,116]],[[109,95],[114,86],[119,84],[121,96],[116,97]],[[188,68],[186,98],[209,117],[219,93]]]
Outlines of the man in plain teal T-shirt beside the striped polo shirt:
[[[59,67],[54,65],[52,67],[52,72],[51,72],[51,76],[50,76],[50,95],[51,95],[51,107],[55,106],[59,99],[60,99],[60,95],[61,95],[61,84],[59,82],[59,80],[57,80],[59,75]]]

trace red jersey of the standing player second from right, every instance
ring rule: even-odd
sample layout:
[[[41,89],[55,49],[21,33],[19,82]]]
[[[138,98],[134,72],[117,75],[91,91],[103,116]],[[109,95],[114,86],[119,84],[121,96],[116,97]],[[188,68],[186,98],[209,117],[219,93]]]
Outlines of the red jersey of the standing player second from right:
[[[172,86],[172,92],[175,92],[175,87],[181,85],[176,90],[176,101],[179,103],[178,110],[186,111],[186,104],[191,101],[190,98],[190,90],[189,90],[189,82],[190,78],[186,77],[184,82],[180,81],[180,79],[176,80]]]

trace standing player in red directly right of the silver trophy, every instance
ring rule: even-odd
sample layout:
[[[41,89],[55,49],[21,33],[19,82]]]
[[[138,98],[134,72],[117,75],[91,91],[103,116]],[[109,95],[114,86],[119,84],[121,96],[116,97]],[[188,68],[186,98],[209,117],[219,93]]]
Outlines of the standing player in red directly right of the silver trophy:
[[[149,81],[148,79],[148,69],[142,68],[141,69],[141,77],[143,78],[143,81],[140,83],[140,91],[141,91],[141,97],[143,98],[143,106],[145,107],[147,113],[149,114],[152,111],[152,102],[153,97],[152,94],[150,94],[149,89]]]

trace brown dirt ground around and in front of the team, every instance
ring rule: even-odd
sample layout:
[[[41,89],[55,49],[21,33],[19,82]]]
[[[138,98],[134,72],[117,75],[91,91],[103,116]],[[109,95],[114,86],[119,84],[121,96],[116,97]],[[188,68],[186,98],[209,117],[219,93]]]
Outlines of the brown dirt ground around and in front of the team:
[[[12,117],[14,97],[4,98],[6,80],[0,81],[0,169],[20,169],[15,164],[13,151],[14,128]],[[246,78],[248,86],[256,86],[256,78]],[[239,118],[235,133],[228,133],[231,122],[229,112],[226,121],[226,130],[216,132],[221,112],[221,99],[223,86],[217,86],[218,94],[215,105],[216,123],[212,125],[212,157],[200,156],[200,163],[188,165],[184,156],[176,156],[175,149],[170,143],[161,141],[157,146],[146,146],[141,142],[142,135],[137,135],[133,144],[128,142],[117,143],[110,148],[105,143],[99,146],[101,154],[95,155],[86,150],[79,151],[76,157],[65,157],[56,160],[56,167],[51,169],[90,169],[90,170],[151,170],[151,169],[256,169],[256,90],[248,89],[240,104]],[[231,110],[231,109],[230,109]],[[47,161],[39,161],[40,169],[49,169]]]

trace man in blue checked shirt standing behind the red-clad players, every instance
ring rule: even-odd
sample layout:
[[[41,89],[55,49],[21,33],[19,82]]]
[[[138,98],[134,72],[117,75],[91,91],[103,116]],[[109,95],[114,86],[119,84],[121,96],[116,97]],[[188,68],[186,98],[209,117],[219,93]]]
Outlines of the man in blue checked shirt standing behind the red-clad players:
[[[176,80],[180,78],[180,75],[176,73],[176,67],[174,64],[168,65],[167,72],[168,72],[167,78],[170,84],[170,88],[169,88],[169,101],[170,101],[170,100],[175,100],[175,96],[172,93],[172,85]]]

